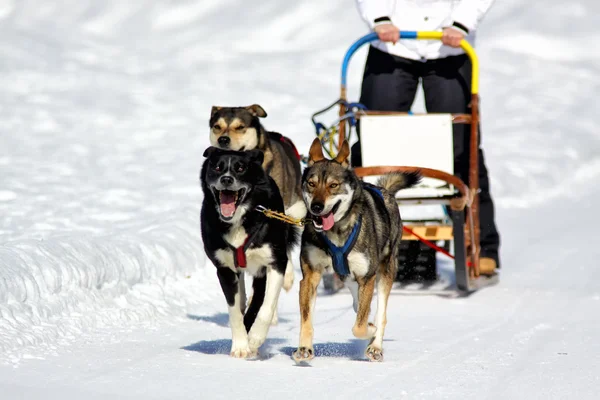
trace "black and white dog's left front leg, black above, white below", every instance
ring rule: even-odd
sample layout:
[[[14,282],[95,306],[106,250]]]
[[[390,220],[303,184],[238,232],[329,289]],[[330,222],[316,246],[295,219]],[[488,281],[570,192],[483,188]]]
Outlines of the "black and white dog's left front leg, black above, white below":
[[[229,306],[229,326],[231,327],[231,352],[235,358],[247,358],[252,353],[248,346],[248,334],[244,327],[242,296],[239,290],[239,279],[235,272],[227,267],[218,267],[217,276],[221,289]]]

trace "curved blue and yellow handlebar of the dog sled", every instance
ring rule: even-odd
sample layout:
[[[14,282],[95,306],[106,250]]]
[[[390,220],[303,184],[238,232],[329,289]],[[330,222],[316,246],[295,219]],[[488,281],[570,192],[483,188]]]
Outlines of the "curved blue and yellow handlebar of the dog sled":
[[[400,39],[417,39],[417,40],[441,40],[442,32],[435,31],[400,31]],[[373,42],[375,40],[379,40],[377,34],[375,32],[371,32],[350,46],[346,55],[344,56],[344,61],[342,63],[342,98],[346,98],[346,78],[348,75],[348,64],[350,63],[350,59],[356,53],[356,51],[364,44]],[[473,49],[473,46],[465,39],[460,42],[460,47],[465,51],[465,53],[469,56],[471,60],[472,66],[472,76],[471,76],[471,94],[477,94],[479,92],[479,60],[477,59],[477,54]]]

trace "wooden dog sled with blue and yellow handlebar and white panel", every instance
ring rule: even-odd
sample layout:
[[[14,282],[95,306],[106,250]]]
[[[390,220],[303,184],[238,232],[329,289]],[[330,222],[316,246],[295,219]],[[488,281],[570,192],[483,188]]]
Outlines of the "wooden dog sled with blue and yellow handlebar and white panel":
[[[440,40],[441,32],[400,32],[400,39]],[[495,284],[498,276],[479,273],[478,135],[479,65],[475,51],[463,40],[461,47],[472,63],[470,114],[414,114],[367,110],[347,99],[350,59],[363,45],[377,40],[370,33],[346,52],[341,70],[340,98],[316,112],[312,122],[324,150],[335,157],[344,140],[360,128],[362,167],[356,174],[367,182],[394,171],[421,172],[422,183],[397,194],[404,222],[403,248],[397,277],[400,288],[411,292],[440,292],[465,295]],[[316,120],[339,107],[328,126]],[[454,175],[453,124],[471,129],[468,182]],[[384,145],[381,144],[392,144]],[[403,165],[398,165],[401,162]],[[432,208],[433,207],[433,208]],[[418,212],[418,209],[427,209]],[[431,212],[437,210],[437,212]],[[452,244],[452,246],[450,246]],[[454,259],[454,277],[442,279],[437,271],[436,252]]]

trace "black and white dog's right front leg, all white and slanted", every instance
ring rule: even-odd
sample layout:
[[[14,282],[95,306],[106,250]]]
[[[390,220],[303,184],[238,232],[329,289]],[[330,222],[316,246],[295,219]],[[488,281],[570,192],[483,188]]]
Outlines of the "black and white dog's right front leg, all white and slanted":
[[[258,348],[265,342],[269,326],[273,320],[273,314],[277,308],[277,301],[283,286],[283,274],[272,267],[267,268],[267,287],[265,289],[265,299],[263,301],[258,315],[250,332],[248,333],[248,341],[252,351],[258,351]]]

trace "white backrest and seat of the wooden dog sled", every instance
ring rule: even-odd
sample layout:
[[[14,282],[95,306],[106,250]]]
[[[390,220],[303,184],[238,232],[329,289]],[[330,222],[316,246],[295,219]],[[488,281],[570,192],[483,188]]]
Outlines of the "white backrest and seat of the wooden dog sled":
[[[364,167],[410,166],[437,169],[454,175],[451,114],[363,115],[360,143]],[[364,178],[375,183],[376,176]],[[439,198],[455,193],[447,182],[424,178],[397,194],[402,199]]]

